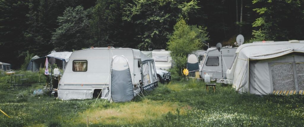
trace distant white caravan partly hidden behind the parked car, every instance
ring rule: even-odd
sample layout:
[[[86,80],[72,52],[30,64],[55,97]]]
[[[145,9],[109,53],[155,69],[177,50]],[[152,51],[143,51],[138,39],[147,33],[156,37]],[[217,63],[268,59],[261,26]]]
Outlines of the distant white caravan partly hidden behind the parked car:
[[[170,51],[153,50],[152,58],[155,60],[155,66],[157,69],[168,70],[172,67],[172,57],[170,56]]]

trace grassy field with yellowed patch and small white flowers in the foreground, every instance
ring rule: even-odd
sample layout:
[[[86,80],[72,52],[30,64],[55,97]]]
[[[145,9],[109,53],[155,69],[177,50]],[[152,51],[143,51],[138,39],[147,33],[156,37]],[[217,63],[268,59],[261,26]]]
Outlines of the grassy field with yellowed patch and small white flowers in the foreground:
[[[98,99],[62,101],[34,96],[45,84],[39,73],[28,89],[8,88],[9,76],[0,77],[0,126],[304,126],[304,97],[239,94],[217,84],[206,91],[201,81],[160,84],[132,102],[109,103]],[[41,78],[41,77],[40,77]],[[43,78],[42,78],[43,79]]]

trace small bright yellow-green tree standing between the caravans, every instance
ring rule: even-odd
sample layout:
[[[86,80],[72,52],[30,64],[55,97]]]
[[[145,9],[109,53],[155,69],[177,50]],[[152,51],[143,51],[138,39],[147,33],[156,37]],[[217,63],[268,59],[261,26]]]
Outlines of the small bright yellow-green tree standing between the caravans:
[[[180,72],[186,67],[187,56],[203,47],[203,41],[209,39],[205,27],[188,25],[181,19],[174,25],[174,32],[168,41],[170,55],[175,62],[175,71]]]

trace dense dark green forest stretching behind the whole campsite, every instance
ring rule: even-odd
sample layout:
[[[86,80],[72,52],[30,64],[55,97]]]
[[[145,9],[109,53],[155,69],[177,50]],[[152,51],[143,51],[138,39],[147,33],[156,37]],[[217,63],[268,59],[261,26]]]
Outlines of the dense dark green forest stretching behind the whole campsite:
[[[233,45],[238,34],[251,43],[303,33],[304,0],[0,0],[0,61],[13,69],[51,50],[170,50],[176,40],[206,49]]]

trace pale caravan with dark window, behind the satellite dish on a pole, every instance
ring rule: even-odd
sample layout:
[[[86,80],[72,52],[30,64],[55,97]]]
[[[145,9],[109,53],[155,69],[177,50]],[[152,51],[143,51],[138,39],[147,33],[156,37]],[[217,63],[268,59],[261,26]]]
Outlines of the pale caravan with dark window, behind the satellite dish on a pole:
[[[200,63],[199,74],[204,79],[205,75],[209,75],[210,79],[222,79],[226,76],[226,70],[230,67],[233,61],[233,57],[237,48],[223,47],[220,51],[223,55],[223,61],[221,52],[216,47],[207,49],[204,59]],[[222,75],[222,62],[223,62],[223,75]]]

